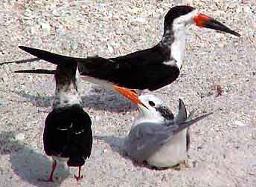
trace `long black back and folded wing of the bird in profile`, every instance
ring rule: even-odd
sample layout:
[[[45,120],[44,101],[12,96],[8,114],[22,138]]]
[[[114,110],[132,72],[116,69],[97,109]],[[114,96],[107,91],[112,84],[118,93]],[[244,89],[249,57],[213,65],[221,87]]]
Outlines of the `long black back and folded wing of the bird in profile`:
[[[154,91],[169,85],[179,76],[175,60],[170,59],[170,49],[160,45],[111,59],[99,56],[74,58],[31,47],[20,48],[56,65],[64,61],[77,62],[82,76],[91,76],[130,89]],[[164,64],[170,61],[173,61],[172,65]]]

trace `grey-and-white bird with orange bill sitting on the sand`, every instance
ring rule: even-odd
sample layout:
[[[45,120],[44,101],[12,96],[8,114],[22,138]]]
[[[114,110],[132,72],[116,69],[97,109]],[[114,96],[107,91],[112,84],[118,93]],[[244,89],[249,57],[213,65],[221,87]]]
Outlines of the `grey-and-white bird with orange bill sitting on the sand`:
[[[147,162],[156,168],[173,167],[188,160],[188,128],[212,113],[190,119],[184,102],[179,99],[179,113],[173,117],[165,102],[156,96],[138,96],[126,88],[117,90],[138,105],[138,117],[132,122],[124,141],[124,151],[132,160],[137,163]]]

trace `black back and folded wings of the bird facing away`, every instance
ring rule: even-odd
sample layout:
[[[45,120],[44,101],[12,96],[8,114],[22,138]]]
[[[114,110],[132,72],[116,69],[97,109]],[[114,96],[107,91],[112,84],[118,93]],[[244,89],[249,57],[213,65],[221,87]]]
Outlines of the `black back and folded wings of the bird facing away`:
[[[48,156],[69,157],[69,166],[83,165],[92,151],[91,123],[83,109],[51,111],[45,120],[45,153]]]

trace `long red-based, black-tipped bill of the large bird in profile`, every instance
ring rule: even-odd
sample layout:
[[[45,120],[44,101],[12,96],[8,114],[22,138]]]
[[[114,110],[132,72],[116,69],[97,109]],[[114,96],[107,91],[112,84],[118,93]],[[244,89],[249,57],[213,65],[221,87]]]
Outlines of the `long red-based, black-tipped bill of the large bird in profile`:
[[[218,22],[217,20],[212,19],[202,13],[195,16],[193,18],[193,22],[195,22],[198,27],[205,27],[205,28],[210,28],[210,29],[214,29],[214,30],[220,30],[225,33],[231,33],[235,36],[240,36],[240,33],[237,33],[234,30],[231,30],[230,28],[226,27],[224,24],[222,24],[222,23]]]

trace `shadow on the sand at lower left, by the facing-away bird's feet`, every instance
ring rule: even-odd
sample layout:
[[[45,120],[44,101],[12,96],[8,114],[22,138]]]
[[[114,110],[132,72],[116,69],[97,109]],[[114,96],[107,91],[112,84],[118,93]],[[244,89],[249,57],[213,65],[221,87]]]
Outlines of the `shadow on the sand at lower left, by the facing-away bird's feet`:
[[[56,173],[54,172],[54,175],[59,177],[58,180],[54,180],[54,183],[40,181],[48,178],[52,161],[16,140],[15,134],[14,131],[4,131],[0,134],[0,155],[10,154],[9,162],[13,172],[33,186],[60,186],[69,176],[68,168],[58,164]]]

